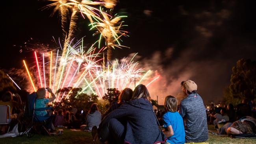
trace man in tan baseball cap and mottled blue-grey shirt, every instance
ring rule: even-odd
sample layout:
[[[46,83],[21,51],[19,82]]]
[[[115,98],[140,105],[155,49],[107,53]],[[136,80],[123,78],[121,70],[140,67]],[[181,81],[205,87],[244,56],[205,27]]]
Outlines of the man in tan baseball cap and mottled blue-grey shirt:
[[[197,84],[194,81],[182,81],[181,87],[187,95],[180,102],[179,113],[184,119],[186,142],[204,142],[208,139],[208,127],[204,102],[197,94]]]

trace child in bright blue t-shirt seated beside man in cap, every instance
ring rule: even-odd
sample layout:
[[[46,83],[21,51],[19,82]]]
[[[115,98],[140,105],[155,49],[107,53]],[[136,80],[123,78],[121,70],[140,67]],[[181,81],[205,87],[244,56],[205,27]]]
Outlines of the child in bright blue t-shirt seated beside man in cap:
[[[173,96],[165,98],[165,109],[167,113],[163,115],[163,126],[168,131],[165,131],[167,142],[170,144],[184,144],[185,130],[183,119],[180,113],[177,112],[178,102]]]

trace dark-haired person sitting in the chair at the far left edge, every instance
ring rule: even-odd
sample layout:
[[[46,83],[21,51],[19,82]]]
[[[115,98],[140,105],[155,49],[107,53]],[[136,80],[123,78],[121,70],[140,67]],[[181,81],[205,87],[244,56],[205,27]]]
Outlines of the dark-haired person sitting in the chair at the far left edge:
[[[21,100],[20,100],[19,94],[15,94],[15,96],[17,97],[18,101],[14,101],[13,100],[13,94],[10,91],[6,91],[2,95],[2,100],[0,100],[0,105],[9,105],[10,106],[11,114],[12,114],[12,111],[13,111],[13,107],[19,107],[19,105],[21,105]],[[8,111],[9,111],[9,108],[8,108]],[[9,114],[8,114],[7,118],[9,118],[9,117],[11,117],[11,116],[9,116]],[[6,133],[6,130],[7,130],[6,127],[7,127],[7,125],[0,125],[0,130],[1,130],[0,135]]]

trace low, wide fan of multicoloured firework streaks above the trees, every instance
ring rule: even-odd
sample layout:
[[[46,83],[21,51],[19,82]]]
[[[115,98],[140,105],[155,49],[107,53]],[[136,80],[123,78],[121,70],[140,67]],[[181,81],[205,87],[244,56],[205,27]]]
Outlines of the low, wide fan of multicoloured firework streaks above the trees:
[[[90,48],[86,48],[82,41],[78,41],[73,46],[69,45],[64,59],[58,56],[59,50],[57,50],[44,51],[43,54],[34,52],[35,62],[30,63],[32,65],[30,68],[24,61],[34,90],[43,86],[40,71],[44,71],[43,78],[44,81],[47,81],[45,87],[52,87],[52,90],[57,94],[56,102],[59,102],[63,97],[68,98],[72,89],[70,92],[61,92],[61,89],[65,87],[80,87],[82,88],[80,93],[93,93],[102,97],[109,88],[122,90],[129,87],[134,89],[136,85],[144,82],[143,80],[148,81],[145,78],[150,76],[150,70],[146,71],[145,68],[139,68],[139,63],[133,60],[134,57],[132,59],[127,57],[121,60],[116,59],[112,62],[108,61],[107,65],[102,65],[102,50],[104,47],[98,50],[93,44]],[[39,59],[40,57],[41,59]],[[43,62],[40,62],[40,60]],[[57,78],[56,71],[60,68],[61,75]],[[29,69],[33,73],[38,71],[38,75],[35,73],[34,76],[31,75]],[[52,71],[54,71],[54,74],[52,74]],[[148,85],[156,79],[153,79]],[[139,83],[135,83],[136,81],[139,81]]]

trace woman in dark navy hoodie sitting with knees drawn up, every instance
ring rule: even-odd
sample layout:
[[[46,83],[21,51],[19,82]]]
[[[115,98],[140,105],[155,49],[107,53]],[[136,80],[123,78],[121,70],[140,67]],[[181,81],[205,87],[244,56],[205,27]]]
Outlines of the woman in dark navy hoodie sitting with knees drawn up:
[[[100,123],[98,133],[93,138],[95,144],[102,144],[109,137],[115,137],[117,143],[157,144],[163,142],[158,129],[157,119],[151,104],[151,98],[145,85],[138,85],[132,100],[122,104],[109,113]],[[117,119],[125,118],[126,126]]]

